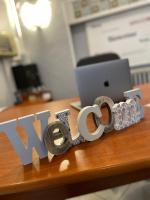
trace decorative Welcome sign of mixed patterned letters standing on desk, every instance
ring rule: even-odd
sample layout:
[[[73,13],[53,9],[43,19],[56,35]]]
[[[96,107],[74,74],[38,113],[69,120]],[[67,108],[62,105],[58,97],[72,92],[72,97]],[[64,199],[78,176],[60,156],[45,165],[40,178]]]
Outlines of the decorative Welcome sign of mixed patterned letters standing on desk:
[[[138,123],[144,118],[144,110],[140,105],[141,91],[139,89],[124,92],[125,102],[114,104],[109,97],[98,97],[93,106],[83,108],[77,119],[78,134],[75,138],[71,137],[69,125],[70,110],[63,110],[56,113],[56,121],[48,123],[51,116],[50,111],[28,115],[11,121],[0,123],[0,132],[4,132],[17,154],[20,156],[24,165],[32,163],[32,149],[35,148],[39,158],[48,156],[48,151],[54,155],[60,155],[68,151],[72,146],[85,141],[99,139],[103,133],[108,133],[113,129],[119,131],[132,124]],[[101,122],[101,107],[106,105],[109,111],[109,123]],[[90,133],[87,127],[87,117],[93,113],[93,120],[97,129]],[[41,123],[41,139],[37,136],[33,126],[35,120]],[[19,137],[16,127],[20,125],[26,130],[28,136],[28,146],[25,147]],[[61,139],[58,145],[56,140]]]

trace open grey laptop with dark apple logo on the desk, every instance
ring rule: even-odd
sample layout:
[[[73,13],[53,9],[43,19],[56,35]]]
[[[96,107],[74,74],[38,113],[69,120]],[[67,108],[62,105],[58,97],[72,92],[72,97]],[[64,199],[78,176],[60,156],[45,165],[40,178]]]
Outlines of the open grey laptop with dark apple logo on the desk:
[[[81,102],[71,105],[77,109],[93,105],[99,96],[108,96],[114,102],[123,101],[123,92],[132,88],[128,59],[78,67],[75,77]]]

